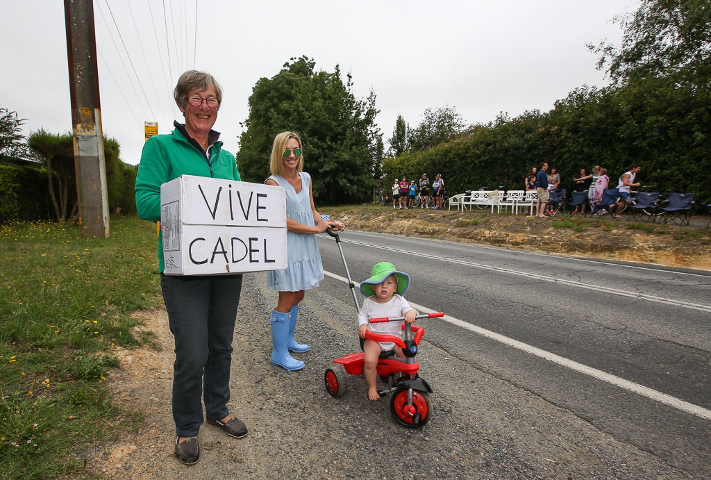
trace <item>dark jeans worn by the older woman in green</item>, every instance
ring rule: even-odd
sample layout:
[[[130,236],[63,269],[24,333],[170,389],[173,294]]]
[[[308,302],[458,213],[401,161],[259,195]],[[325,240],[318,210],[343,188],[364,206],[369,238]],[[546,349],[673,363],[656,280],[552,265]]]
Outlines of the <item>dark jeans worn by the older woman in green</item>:
[[[242,275],[177,277],[161,274],[163,299],[176,344],[173,420],[178,437],[196,437],[203,406],[210,420],[229,411],[232,336]]]

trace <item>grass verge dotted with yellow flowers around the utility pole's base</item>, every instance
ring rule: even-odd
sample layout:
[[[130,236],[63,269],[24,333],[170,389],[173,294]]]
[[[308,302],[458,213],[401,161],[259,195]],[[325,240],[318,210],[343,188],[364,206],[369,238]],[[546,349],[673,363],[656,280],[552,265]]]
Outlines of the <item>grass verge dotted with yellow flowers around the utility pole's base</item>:
[[[137,412],[112,406],[115,346],[132,311],[161,304],[155,225],[111,219],[111,238],[77,225],[0,225],[0,478],[87,475],[75,454]]]

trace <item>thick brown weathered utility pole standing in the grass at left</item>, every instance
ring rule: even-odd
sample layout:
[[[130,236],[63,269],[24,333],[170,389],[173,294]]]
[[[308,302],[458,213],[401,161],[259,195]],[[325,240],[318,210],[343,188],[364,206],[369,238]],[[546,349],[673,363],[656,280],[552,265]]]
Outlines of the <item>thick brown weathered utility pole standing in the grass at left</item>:
[[[74,166],[82,237],[109,236],[104,134],[92,0],[64,0]]]

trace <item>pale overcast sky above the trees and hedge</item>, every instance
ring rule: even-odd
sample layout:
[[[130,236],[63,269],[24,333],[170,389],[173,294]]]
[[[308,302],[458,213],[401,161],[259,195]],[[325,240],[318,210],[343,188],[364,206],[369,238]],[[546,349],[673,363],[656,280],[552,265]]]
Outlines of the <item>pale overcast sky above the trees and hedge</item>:
[[[27,119],[25,134],[72,129],[63,3],[0,0],[0,106]],[[444,105],[467,124],[547,111],[576,87],[608,83],[586,44],[619,45],[611,20],[638,3],[95,0],[104,134],[137,164],[144,121],[159,122],[160,133],[182,122],[172,90],[196,68],[223,85],[214,128],[236,152],[252,87],[301,55],[317,70],[351,72],[356,97],[375,92],[386,148],[398,114],[415,127],[425,109]]]

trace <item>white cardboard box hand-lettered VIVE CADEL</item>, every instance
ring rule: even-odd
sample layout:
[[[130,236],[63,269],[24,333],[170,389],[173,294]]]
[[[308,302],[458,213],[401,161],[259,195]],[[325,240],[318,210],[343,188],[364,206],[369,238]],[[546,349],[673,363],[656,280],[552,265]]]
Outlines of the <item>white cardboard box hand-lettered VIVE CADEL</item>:
[[[208,275],[287,267],[284,188],[183,175],[161,185],[164,273]]]

